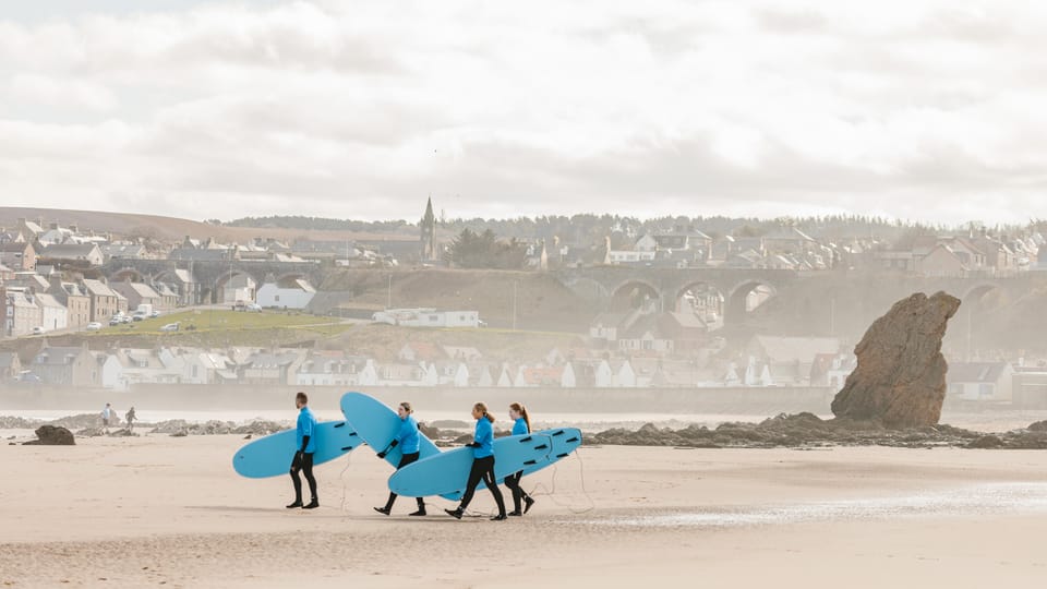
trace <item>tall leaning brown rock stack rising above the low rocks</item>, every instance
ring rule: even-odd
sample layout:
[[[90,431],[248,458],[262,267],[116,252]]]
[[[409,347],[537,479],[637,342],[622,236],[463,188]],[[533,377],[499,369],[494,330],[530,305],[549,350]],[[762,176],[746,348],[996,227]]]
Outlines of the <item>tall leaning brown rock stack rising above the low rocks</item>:
[[[948,370],[941,338],[959,308],[944,292],[894,303],[855,347],[858,364],[832,400],[833,414],[892,429],[937,424]]]

